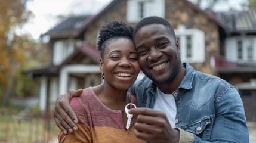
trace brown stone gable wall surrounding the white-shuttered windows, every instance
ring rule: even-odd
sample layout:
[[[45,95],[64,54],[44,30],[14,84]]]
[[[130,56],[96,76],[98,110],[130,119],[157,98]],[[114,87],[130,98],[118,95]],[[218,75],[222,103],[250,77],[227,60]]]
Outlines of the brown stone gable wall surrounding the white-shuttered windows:
[[[97,15],[93,24],[86,29],[85,41],[96,44],[96,37],[101,26],[113,20],[126,21],[126,1],[116,1],[110,7],[104,10],[104,13]],[[174,29],[180,24],[186,26],[187,29],[199,29],[205,32],[205,62],[191,64],[196,70],[203,71],[209,74],[215,74],[210,66],[210,58],[219,54],[220,39],[218,33],[218,25],[214,21],[209,20],[206,14],[192,8],[183,0],[165,1],[165,18],[171,23]],[[136,23],[128,23],[135,26]]]

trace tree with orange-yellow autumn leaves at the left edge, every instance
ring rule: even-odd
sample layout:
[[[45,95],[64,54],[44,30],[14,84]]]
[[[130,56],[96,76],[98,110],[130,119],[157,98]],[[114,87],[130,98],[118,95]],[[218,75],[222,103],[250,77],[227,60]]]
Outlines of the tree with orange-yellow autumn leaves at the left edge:
[[[2,104],[7,103],[11,92],[19,91],[17,83],[32,82],[20,72],[24,67],[29,67],[28,59],[36,56],[31,54],[35,51],[35,40],[29,34],[19,33],[19,29],[22,29],[33,15],[26,10],[26,2],[27,0],[0,1],[0,101]],[[26,89],[22,88],[22,90]]]

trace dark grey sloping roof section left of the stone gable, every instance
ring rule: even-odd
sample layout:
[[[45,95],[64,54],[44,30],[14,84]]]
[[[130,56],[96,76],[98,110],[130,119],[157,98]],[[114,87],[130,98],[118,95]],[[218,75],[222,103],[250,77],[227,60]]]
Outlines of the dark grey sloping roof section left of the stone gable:
[[[70,16],[53,27],[53,29],[48,30],[44,35],[58,38],[78,36],[81,28],[84,27],[88,21],[92,20],[93,17],[92,15]]]

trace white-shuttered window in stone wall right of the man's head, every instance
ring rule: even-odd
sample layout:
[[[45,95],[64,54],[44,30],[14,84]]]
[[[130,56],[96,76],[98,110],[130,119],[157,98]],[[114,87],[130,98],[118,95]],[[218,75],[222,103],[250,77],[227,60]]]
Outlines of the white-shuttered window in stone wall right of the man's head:
[[[205,61],[205,34],[199,29],[186,29],[180,25],[175,29],[180,43],[180,56],[183,62],[202,63]]]

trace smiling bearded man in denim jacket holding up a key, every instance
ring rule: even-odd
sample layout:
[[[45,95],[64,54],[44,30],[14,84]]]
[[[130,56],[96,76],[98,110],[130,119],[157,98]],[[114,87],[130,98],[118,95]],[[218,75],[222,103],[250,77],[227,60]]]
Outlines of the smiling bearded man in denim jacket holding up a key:
[[[182,64],[180,44],[168,21],[144,18],[135,27],[134,43],[146,75],[130,88],[140,107],[129,112],[138,115],[137,138],[149,142],[249,142],[236,89],[223,79]],[[76,116],[67,104],[75,94],[79,91],[57,100],[54,119],[63,131],[76,127],[72,122]]]

